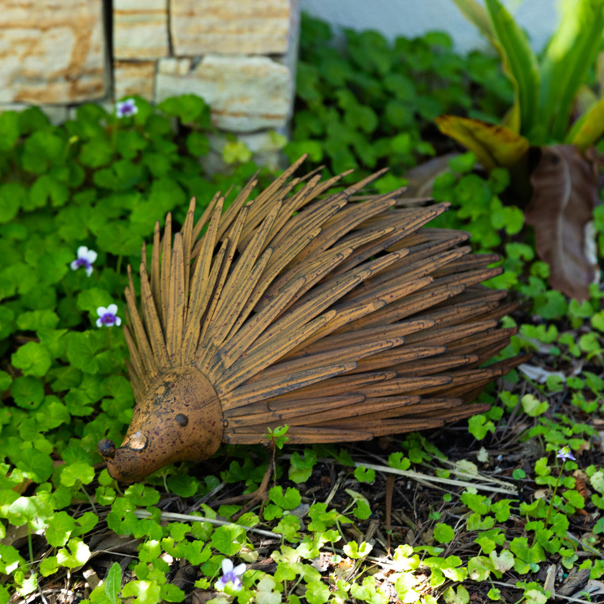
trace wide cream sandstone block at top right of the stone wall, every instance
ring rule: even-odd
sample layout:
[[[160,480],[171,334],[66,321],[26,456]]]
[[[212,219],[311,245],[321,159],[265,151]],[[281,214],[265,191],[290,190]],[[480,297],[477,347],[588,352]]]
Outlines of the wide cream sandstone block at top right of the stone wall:
[[[292,0],[170,0],[176,56],[284,54]]]

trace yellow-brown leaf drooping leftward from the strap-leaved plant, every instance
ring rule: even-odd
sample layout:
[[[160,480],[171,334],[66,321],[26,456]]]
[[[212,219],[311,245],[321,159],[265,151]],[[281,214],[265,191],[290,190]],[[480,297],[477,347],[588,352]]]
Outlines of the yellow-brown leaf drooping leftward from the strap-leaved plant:
[[[457,115],[441,115],[434,121],[443,134],[474,152],[489,172],[498,165],[515,164],[530,147],[526,138],[506,126]]]

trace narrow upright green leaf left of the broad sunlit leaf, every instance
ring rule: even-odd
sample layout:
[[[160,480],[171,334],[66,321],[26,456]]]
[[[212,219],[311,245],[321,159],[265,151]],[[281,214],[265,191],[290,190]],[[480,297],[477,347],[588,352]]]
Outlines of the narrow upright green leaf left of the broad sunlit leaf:
[[[515,104],[519,105],[522,132],[528,133],[536,123],[539,104],[539,66],[524,31],[500,0],[485,0],[487,10],[501,44],[504,72],[514,86]]]

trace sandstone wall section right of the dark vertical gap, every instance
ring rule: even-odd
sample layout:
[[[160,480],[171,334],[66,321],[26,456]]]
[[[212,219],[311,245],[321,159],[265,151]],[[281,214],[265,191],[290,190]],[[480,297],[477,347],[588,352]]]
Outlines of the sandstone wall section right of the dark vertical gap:
[[[115,98],[197,94],[231,132],[283,128],[298,35],[293,0],[114,0]]]

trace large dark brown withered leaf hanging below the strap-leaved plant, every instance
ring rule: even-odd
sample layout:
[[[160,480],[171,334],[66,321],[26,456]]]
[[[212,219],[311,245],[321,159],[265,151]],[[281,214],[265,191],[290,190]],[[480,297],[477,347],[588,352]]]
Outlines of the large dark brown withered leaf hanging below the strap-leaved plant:
[[[551,145],[542,147],[531,182],[525,220],[535,227],[539,257],[550,265],[550,284],[586,300],[597,270],[586,233],[599,202],[596,174],[574,145]]]

